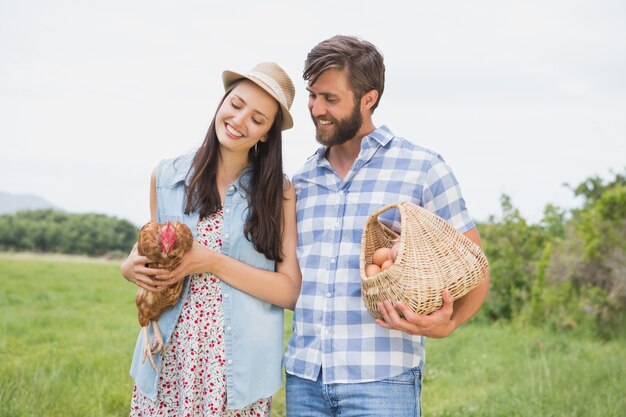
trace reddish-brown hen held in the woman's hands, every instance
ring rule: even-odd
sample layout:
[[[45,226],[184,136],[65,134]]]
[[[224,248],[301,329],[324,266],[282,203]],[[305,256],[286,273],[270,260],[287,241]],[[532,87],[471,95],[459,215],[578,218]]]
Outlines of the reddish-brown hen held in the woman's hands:
[[[193,235],[184,223],[167,222],[146,223],[139,232],[137,249],[140,255],[145,255],[151,263],[149,268],[163,268],[173,270],[191,249]],[[153,277],[154,278],[154,277]],[[137,289],[135,301],[137,303],[137,317],[144,332],[145,346],[142,360],[150,360],[156,371],[156,364],[152,355],[163,349],[163,336],[159,331],[157,319],[169,307],[176,304],[183,290],[184,280],[172,284],[160,292],[147,291],[141,287]],[[152,323],[154,342],[150,344],[148,325]]]

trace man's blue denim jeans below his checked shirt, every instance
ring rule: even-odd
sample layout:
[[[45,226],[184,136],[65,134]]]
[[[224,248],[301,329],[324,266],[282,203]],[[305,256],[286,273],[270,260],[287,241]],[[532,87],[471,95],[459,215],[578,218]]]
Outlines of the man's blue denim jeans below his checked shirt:
[[[323,384],[287,374],[287,417],[420,417],[422,365],[393,378]]]

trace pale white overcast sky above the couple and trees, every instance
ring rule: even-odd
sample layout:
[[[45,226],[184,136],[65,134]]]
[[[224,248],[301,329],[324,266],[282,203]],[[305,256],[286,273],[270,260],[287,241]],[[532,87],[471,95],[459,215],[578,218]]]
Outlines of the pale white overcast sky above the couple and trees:
[[[508,194],[538,221],[577,204],[563,183],[626,167],[623,0],[0,0],[0,191],[140,225],[150,172],[202,142],[221,72],[261,61],[296,86],[291,175],[317,148],[303,61],[339,33],[385,56],[376,125],[442,154],[477,220]]]

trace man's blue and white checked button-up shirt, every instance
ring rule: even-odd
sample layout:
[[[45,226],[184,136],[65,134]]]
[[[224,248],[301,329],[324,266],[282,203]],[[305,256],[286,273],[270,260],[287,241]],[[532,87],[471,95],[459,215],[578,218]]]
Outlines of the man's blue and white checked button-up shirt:
[[[438,154],[380,127],[361,142],[342,180],[320,148],[294,176],[302,290],[285,352],[287,373],[325,384],[377,381],[416,367],[424,337],[378,326],[361,301],[359,253],[368,216],[412,201],[461,233],[474,227],[461,190]],[[391,226],[397,210],[384,213]]]

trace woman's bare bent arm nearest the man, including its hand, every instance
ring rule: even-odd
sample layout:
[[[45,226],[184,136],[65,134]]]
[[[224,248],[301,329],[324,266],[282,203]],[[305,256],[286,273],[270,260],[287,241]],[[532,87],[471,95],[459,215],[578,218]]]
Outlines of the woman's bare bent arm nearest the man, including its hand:
[[[227,284],[279,307],[293,310],[300,294],[302,275],[296,257],[296,193],[291,185],[283,199],[283,261],[276,272],[255,268],[194,242],[191,252],[171,272],[157,275],[161,285],[170,285],[185,276],[211,271]]]

